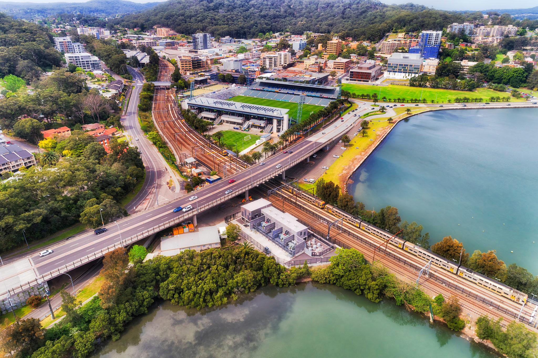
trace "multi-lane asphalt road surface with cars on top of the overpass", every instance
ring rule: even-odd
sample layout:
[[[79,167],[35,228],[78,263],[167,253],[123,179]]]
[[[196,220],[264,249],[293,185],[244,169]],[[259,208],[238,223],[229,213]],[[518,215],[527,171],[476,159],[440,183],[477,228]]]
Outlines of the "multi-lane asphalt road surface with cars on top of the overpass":
[[[226,180],[218,181],[181,198],[166,203],[159,202],[159,206],[150,207],[146,211],[132,214],[115,223],[108,224],[106,226],[107,231],[100,235],[90,232],[55,244],[49,247],[53,250],[53,253],[47,256],[40,257],[33,254],[32,256],[22,257],[17,261],[6,264],[0,269],[0,274],[5,283],[5,286],[0,286],[0,289],[4,291],[3,296],[5,297],[5,291],[7,289],[17,292],[20,291],[20,288],[24,288],[27,282],[32,282],[36,279],[42,281],[40,280],[41,275],[46,275],[50,271],[58,269],[60,271],[66,271],[69,269],[69,265],[72,267],[73,262],[86,258],[88,255],[100,257],[102,256],[100,253],[101,250],[114,244],[121,245],[121,241],[155,226],[166,225],[165,223],[169,220],[180,216],[187,219],[189,216],[192,216],[188,212],[172,212],[177,206],[185,207],[186,205],[192,205],[195,211],[197,207],[207,204],[214,205],[211,203],[214,203],[218,198],[229,198],[239,195],[246,188],[252,187],[256,181],[262,180],[265,177],[268,180],[269,177],[282,173],[286,168],[291,167],[299,160],[306,159],[324,144],[326,145],[327,142],[333,139],[338,139],[343,133],[348,131],[349,125],[353,123],[356,117],[353,117],[350,113],[344,117],[344,122],[337,120],[334,124],[325,127],[323,132],[318,131],[298,142],[298,144],[291,148],[293,151],[291,154],[279,152],[268,157],[263,165],[257,164],[247,168],[240,173],[228,176]],[[276,168],[277,164],[281,164],[282,167]],[[235,182],[229,184],[228,181],[231,179],[234,179]],[[229,189],[232,189],[232,194],[225,194],[225,191]],[[189,197],[193,195],[197,196],[197,198],[190,201]],[[46,275],[45,280],[50,276]]]

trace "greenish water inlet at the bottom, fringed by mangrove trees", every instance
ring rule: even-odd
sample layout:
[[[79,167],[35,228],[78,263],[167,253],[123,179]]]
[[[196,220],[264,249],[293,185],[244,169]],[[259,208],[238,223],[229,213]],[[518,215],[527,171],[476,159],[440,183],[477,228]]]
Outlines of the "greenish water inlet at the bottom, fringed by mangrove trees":
[[[94,357],[492,358],[440,324],[391,301],[313,283],[265,287],[235,303],[187,310],[169,302],[133,320]]]

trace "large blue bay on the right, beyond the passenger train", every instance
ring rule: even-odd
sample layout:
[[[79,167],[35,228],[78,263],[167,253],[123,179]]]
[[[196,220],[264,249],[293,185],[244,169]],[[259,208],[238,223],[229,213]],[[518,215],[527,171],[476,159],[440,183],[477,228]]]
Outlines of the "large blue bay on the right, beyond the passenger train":
[[[400,122],[353,175],[367,209],[452,235],[466,250],[497,250],[538,274],[538,112],[451,110]],[[511,253],[513,251],[513,253]]]

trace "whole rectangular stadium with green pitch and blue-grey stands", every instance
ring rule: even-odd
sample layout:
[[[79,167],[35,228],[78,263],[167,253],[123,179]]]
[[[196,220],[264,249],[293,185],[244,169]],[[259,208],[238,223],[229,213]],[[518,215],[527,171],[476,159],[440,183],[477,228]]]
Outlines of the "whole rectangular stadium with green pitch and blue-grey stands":
[[[310,113],[321,110],[338,95],[337,87],[257,80],[250,87],[232,85],[186,99],[182,108],[214,120],[215,125],[230,123],[243,131],[257,128],[264,133],[280,133],[308,118]],[[300,103],[301,97],[303,103]]]

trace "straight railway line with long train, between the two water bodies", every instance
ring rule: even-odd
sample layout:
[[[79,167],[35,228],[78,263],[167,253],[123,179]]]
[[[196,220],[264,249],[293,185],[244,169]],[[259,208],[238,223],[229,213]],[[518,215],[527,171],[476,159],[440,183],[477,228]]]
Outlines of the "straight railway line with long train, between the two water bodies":
[[[269,189],[274,189],[278,186],[274,183],[265,183],[264,185],[266,185]],[[267,194],[266,191],[263,192],[261,189],[257,189],[257,193],[258,195],[263,196],[266,196]],[[293,202],[289,201],[289,197],[291,197],[292,195],[286,191],[282,191],[282,195],[285,198],[288,198],[288,200],[282,200],[282,198],[275,194],[270,195],[268,200],[273,202],[277,207],[282,207],[282,204],[284,204],[283,207],[285,211],[293,212],[293,214],[295,214],[295,216],[298,217],[304,225],[307,225],[311,230],[314,229],[313,231],[322,236],[323,238],[327,236],[327,223],[334,222],[335,220],[337,220],[336,217],[306,201],[303,201],[303,199],[301,198],[296,198],[296,202],[295,198],[293,199]],[[312,212],[315,212],[315,214],[318,216],[317,220],[313,220]],[[324,222],[322,222],[321,220],[323,220]],[[339,246],[357,248],[360,250],[360,252],[364,254],[367,260],[372,261],[374,252],[373,248],[381,244],[383,240],[367,232],[363,232],[362,230],[359,230],[356,227],[345,223],[345,221],[341,228],[345,228],[345,231],[351,231],[355,233],[355,235],[362,238],[362,240],[358,240],[348,234],[345,234],[343,232],[344,230],[338,230],[336,228],[333,228],[330,233],[329,241],[334,242]],[[423,267],[424,264],[426,264],[426,262],[419,259],[419,257],[408,254],[407,252],[399,250],[392,245],[387,246],[387,252],[390,254],[383,255],[382,253],[378,252],[377,260],[384,264],[384,266],[392,268],[392,270],[398,275],[403,276],[407,280],[410,280],[412,282],[416,280],[416,268]],[[395,260],[394,257],[399,257],[401,261]],[[407,264],[402,264],[402,262],[409,262],[414,267],[409,267]],[[434,279],[434,276],[442,277],[443,282],[438,282],[438,280]],[[454,280],[454,277],[447,277],[447,273],[445,271],[442,271],[435,266],[431,266],[429,276],[422,277],[423,281],[421,282],[421,285],[427,287],[428,289],[436,293],[443,293],[443,295],[448,294],[449,296],[458,296],[462,306],[464,306],[469,311],[475,312],[479,315],[488,314],[490,317],[494,317],[495,319],[502,317],[505,321],[509,322],[513,319],[516,319],[520,314],[521,310],[520,321],[528,323],[528,317],[530,317],[530,313],[532,313],[534,308],[530,307],[529,305],[522,307],[515,302],[503,300],[501,299],[501,297],[492,298],[490,291],[482,289],[465,280],[458,280],[457,277],[456,280]],[[462,290],[458,288],[463,288],[465,291],[472,292],[474,293],[474,295],[481,297],[482,302],[480,302],[480,300],[477,300],[476,297],[473,298],[470,295],[462,294]],[[493,305],[489,304],[492,303],[491,299],[495,300],[494,305],[498,306],[499,310],[495,309],[496,307],[493,307]],[[535,326],[535,322],[530,325],[527,325],[529,329],[536,331]]]

